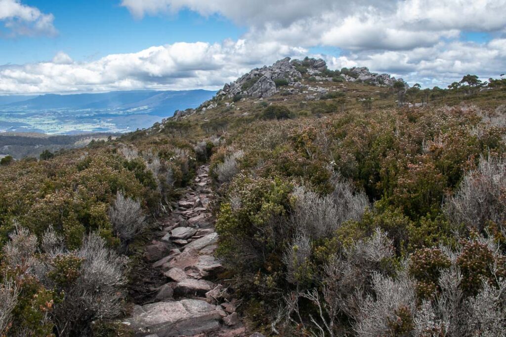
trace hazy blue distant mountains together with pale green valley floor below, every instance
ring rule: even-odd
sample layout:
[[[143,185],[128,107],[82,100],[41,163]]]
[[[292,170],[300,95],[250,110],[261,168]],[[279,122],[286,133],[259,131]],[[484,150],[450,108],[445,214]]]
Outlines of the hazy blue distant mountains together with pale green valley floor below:
[[[0,96],[0,132],[126,132],[149,127],[176,110],[196,108],[215,93],[198,89]]]

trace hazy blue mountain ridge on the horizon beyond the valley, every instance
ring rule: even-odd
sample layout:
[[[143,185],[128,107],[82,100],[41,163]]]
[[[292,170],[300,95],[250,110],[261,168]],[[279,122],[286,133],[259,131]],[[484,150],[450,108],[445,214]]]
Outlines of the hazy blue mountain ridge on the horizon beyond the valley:
[[[210,99],[215,91],[208,90],[181,90],[181,91],[155,91],[131,90],[112,91],[103,93],[79,94],[45,94],[36,97],[0,97],[2,108],[23,110],[47,109],[91,109],[91,110],[139,110],[155,116],[172,116],[178,109],[197,107]],[[19,99],[17,99],[19,98]],[[9,102],[9,100],[11,102]]]

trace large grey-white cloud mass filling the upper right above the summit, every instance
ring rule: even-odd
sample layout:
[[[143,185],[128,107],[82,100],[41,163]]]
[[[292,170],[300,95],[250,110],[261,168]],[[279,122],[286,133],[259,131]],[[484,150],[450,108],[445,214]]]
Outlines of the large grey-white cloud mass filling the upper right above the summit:
[[[498,76],[506,69],[506,0],[122,0],[137,18],[177,13],[219,15],[246,26],[251,44],[332,46],[339,57],[317,55],[331,68],[367,66],[427,86],[464,73]],[[485,43],[460,39],[486,32]]]

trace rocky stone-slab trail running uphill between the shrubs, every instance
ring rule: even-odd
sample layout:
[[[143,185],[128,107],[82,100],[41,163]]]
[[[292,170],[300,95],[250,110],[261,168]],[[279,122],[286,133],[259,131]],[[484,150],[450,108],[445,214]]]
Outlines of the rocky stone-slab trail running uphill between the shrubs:
[[[132,316],[124,321],[136,336],[249,335],[237,303],[217,282],[223,267],[214,256],[218,234],[209,210],[214,194],[208,172],[208,166],[199,167],[145,249],[149,263],[141,271]]]

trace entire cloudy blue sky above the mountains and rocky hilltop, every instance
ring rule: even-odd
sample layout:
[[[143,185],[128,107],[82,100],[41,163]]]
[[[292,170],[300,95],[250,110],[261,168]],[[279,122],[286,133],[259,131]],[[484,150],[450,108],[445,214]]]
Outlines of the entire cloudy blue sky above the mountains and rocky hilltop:
[[[0,94],[219,89],[286,56],[445,87],[506,72],[506,0],[0,0]]]

